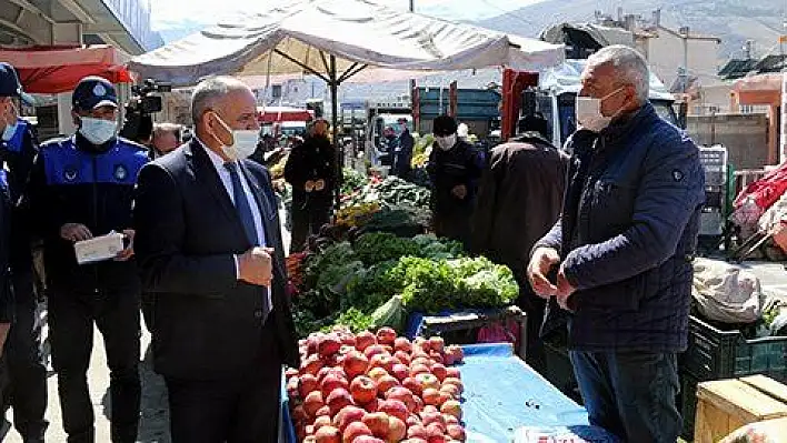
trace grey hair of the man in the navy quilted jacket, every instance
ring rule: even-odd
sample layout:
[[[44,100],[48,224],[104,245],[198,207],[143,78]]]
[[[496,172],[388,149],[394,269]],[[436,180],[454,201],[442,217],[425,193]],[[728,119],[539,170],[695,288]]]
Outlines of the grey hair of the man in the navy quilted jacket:
[[[637,91],[640,103],[648,100],[650,93],[650,69],[642,54],[622,44],[601,48],[588,58],[588,66],[610,64],[620,81],[630,84]]]

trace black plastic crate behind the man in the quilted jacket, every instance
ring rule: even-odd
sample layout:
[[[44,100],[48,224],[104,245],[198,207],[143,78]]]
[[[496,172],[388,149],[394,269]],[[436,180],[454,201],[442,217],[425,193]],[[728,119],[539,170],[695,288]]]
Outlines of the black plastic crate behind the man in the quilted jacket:
[[[764,374],[787,382],[787,336],[746,339],[691,315],[683,362],[698,381]]]

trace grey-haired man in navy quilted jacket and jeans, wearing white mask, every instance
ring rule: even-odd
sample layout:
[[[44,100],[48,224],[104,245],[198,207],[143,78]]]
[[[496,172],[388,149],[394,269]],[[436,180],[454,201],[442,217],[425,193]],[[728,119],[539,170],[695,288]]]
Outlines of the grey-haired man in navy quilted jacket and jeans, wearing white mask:
[[[594,54],[561,219],[534,248],[534,291],[570,312],[568,344],[590,422],[627,442],[675,442],[704,202],[698,149],[648,102],[642,57]],[[554,281],[547,278],[557,270]],[[557,304],[557,305],[556,305]]]

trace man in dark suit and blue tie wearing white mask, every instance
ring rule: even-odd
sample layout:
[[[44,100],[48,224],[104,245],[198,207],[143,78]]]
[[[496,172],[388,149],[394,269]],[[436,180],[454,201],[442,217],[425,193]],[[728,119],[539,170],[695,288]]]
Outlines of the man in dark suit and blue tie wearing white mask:
[[[141,171],[135,209],[172,441],[275,442],[281,365],[297,366],[298,349],[276,197],[247,160],[255,95],[213,78],[191,110],[195,139]]]

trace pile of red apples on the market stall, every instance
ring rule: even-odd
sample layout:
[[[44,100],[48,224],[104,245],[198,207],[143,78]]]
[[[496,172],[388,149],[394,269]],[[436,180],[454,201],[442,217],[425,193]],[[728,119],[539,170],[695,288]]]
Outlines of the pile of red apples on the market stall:
[[[464,442],[459,346],[441,338],[346,330],[300,341],[287,371],[298,440],[311,443]]]

